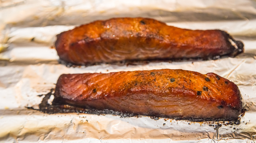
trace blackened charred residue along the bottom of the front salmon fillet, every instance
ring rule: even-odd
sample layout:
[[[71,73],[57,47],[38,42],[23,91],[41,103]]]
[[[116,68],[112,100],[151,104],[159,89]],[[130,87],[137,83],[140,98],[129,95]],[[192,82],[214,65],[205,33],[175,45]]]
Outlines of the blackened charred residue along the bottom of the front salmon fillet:
[[[126,117],[142,117],[142,115],[135,114],[135,113],[124,113],[119,111],[114,111],[110,109],[104,109],[104,110],[97,110],[97,109],[87,109],[82,107],[75,107],[72,105],[65,104],[65,100],[62,98],[56,98],[54,96],[54,100],[52,102],[52,105],[48,104],[48,99],[53,94],[54,89],[51,89],[51,91],[47,94],[45,94],[45,97],[43,98],[42,102],[39,104],[39,111],[47,114],[56,114],[56,113],[86,113],[86,114],[94,114],[94,115],[104,115],[104,114],[110,114],[110,115],[116,115],[120,116],[120,118],[126,118]],[[34,109],[33,107],[27,107],[28,109],[38,110]],[[242,113],[237,119],[214,119],[214,118],[172,118],[168,116],[162,116],[162,115],[155,115],[155,116],[148,116],[151,119],[158,120],[159,118],[165,118],[165,119],[176,119],[176,120],[189,120],[193,122],[202,122],[202,121],[229,121],[227,124],[240,124],[241,117],[244,116],[245,111],[248,111],[247,109],[242,109]]]

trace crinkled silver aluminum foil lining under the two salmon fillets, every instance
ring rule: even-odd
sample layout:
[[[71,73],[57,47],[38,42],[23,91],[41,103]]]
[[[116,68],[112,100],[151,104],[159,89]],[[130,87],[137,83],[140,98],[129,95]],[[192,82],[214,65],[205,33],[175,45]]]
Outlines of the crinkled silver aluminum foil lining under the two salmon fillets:
[[[219,60],[142,65],[66,67],[58,63],[53,48],[56,34],[112,17],[150,17],[181,28],[225,30],[244,42],[245,53]],[[255,0],[2,0],[0,142],[255,142],[255,25]],[[26,108],[38,106],[44,97],[38,95],[50,92],[62,73],[166,68],[214,72],[237,84],[243,107],[248,109],[241,123],[216,128],[216,122],[82,113],[49,115]]]

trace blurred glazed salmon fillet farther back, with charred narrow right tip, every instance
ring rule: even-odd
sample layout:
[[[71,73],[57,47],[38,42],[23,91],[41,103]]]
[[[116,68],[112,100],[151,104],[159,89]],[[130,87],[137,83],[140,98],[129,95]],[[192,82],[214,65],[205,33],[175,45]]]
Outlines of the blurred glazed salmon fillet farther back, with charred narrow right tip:
[[[244,44],[221,30],[188,30],[149,18],[95,21],[57,35],[61,61],[75,65],[119,61],[234,57]]]

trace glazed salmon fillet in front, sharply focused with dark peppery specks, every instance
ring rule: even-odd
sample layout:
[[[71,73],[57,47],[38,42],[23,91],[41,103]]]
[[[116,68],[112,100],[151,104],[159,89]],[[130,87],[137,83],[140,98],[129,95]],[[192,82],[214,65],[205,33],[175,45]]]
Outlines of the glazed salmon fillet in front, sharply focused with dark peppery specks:
[[[238,87],[215,74],[184,70],[62,74],[54,103],[173,119],[235,120]]]

